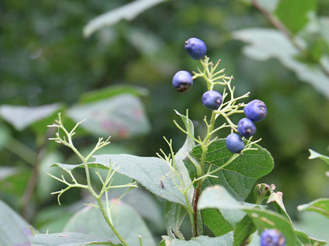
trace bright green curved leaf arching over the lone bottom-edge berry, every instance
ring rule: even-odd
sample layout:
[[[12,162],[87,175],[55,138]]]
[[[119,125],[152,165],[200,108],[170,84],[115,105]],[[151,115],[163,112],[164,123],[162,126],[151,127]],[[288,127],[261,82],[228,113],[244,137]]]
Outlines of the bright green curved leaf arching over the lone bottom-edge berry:
[[[261,210],[260,208],[247,208],[244,211],[252,218],[258,232],[263,232],[263,230],[269,228],[276,228],[286,238],[287,245],[301,245],[295,235],[293,226],[286,217],[271,210]]]

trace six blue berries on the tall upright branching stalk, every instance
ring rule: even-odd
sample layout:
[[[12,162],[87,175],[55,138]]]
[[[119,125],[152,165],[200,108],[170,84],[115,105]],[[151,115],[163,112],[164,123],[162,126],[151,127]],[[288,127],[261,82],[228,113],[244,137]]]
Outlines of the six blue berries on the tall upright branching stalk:
[[[202,59],[206,55],[206,44],[199,38],[190,38],[185,42],[185,51],[193,59]],[[173,76],[173,87],[178,92],[187,92],[193,85],[193,77],[185,70],[180,70]],[[217,110],[223,102],[223,96],[212,90],[212,87],[202,95],[202,104],[210,110]],[[263,120],[267,114],[267,108],[261,100],[252,100],[245,105],[246,118],[239,121],[237,130],[243,137],[252,137],[256,133],[254,122]],[[231,133],[226,138],[226,148],[232,153],[240,153],[245,148],[245,143],[237,133]]]

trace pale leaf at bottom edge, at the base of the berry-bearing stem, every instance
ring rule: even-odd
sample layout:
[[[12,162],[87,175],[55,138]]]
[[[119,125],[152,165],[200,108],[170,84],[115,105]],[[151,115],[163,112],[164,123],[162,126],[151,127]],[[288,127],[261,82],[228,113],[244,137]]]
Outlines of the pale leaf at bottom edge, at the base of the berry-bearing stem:
[[[197,236],[191,238],[190,241],[183,241],[179,239],[173,239],[169,236],[162,236],[165,245],[175,245],[175,246],[232,246],[233,245],[233,234],[229,232],[223,236],[209,237],[209,236]],[[164,244],[162,244],[164,245]]]

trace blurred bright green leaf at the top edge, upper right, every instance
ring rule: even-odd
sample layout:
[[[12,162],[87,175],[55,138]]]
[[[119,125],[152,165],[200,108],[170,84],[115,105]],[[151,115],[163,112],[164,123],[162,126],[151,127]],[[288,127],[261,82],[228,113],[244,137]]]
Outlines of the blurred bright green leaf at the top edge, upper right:
[[[315,9],[315,0],[280,0],[276,15],[292,33],[297,33],[308,23],[308,14]]]

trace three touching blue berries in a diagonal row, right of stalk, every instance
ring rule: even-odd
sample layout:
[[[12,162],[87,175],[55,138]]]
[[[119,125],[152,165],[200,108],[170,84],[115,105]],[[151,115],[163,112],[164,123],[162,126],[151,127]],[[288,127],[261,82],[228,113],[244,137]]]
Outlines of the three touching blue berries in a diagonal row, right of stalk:
[[[261,100],[248,102],[243,109],[246,118],[239,120],[238,132],[243,137],[252,137],[256,133],[254,122],[263,120],[267,115],[267,107]],[[245,148],[245,143],[237,133],[231,133],[226,138],[226,148],[232,153],[239,153]]]

